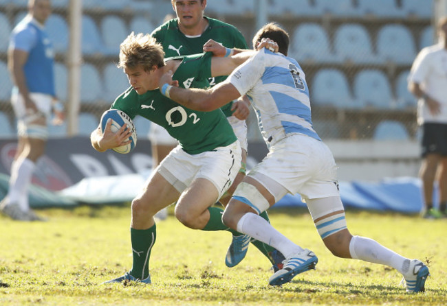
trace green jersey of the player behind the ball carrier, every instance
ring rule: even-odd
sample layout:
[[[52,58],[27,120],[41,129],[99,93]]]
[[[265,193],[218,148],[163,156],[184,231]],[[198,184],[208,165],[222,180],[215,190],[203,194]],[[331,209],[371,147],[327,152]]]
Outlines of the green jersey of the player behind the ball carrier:
[[[158,43],[162,44],[166,58],[202,53],[204,44],[210,39],[217,41],[217,43],[221,43],[227,48],[248,49],[245,38],[243,38],[243,35],[236,27],[217,19],[209,17],[205,18],[208,20],[208,27],[198,37],[186,36],[180,32],[177,25],[177,19],[171,19],[163,25],[160,25],[160,27],[153,30],[151,36],[153,36]],[[214,86],[225,79],[226,77],[224,76],[210,78],[209,82],[211,86]],[[221,108],[227,117],[232,115],[230,108],[231,103]]]

